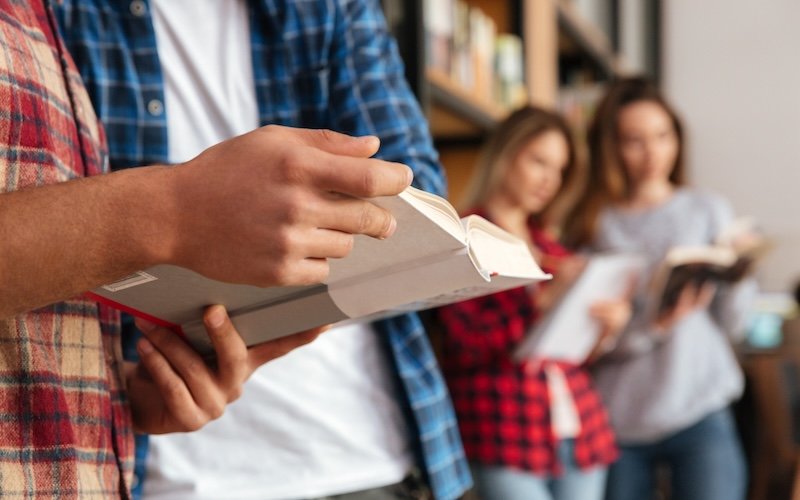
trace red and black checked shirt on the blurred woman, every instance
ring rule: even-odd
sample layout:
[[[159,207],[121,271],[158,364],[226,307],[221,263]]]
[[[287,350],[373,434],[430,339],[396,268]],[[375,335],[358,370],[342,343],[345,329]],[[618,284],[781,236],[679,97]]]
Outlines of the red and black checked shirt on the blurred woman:
[[[543,268],[557,272],[558,260],[569,252],[534,225],[530,231],[532,241],[545,254]],[[557,475],[561,465],[555,453],[543,365],[511,359],[538,317],[529,291],[508,290],[446,306],[437,313],[444,327],[442,368],[467,457],[485,465]],[[557,365],[580,417],[577,464],[586,468],[613,462],[618,454],[614,435],[588,372],[569,363]]]

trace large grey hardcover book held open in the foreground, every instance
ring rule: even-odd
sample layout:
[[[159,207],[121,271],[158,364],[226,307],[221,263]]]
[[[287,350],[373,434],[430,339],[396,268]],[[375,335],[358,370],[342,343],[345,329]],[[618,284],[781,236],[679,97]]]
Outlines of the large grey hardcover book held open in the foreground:
[[[414,188],[373,200],[392,212],[386,240],[356,236],[330,260],[326,283],[258,288],[162,265],[97,288],[92,296],[175,327],[201,352],[212,347],[202,311],[223,304],[248,345],[339,321],[374,320],[549,279],[526,243],[478,217],[459,219],[443,198]]]

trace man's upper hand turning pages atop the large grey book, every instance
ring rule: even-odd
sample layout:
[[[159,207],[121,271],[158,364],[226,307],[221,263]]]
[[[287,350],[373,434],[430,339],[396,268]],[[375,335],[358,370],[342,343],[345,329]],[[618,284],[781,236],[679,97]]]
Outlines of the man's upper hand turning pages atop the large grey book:
[[[363,198],[411,184],[405,165],[372,159],[375,137],[267,126],[174,168],[171,261],[259,286],[318,283],[353,235],[390,236],[396,221]]]

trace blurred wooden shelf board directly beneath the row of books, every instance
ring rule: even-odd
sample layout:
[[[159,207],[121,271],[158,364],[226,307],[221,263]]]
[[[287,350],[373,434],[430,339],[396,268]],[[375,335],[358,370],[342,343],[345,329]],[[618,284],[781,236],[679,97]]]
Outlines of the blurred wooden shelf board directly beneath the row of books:
[[[475,137],[491,130],[508,114],[502,106],[472,94],[442,71],[428,68],[431,131],[440,138]]]

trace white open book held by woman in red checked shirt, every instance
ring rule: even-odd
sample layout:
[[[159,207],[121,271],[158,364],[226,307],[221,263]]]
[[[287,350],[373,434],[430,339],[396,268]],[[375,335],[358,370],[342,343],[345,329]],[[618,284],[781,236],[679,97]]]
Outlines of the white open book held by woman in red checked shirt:
[[[514,352],[514,359],[549,359],[583,363],[594,350],[601,325],[589,314],[600,301],[625,296],[644,273],[637,254],[598,254],[588,258],[578,276],[567,283],[547,315],[537,322]]]

